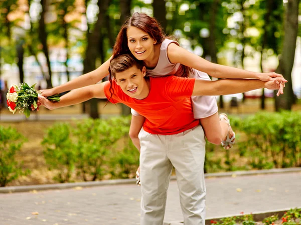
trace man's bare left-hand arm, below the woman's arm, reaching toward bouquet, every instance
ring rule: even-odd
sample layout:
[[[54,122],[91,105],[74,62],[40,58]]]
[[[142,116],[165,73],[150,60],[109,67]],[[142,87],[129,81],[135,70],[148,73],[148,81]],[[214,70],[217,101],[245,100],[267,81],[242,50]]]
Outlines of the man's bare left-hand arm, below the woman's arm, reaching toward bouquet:
[[[109,81],[74,89],[61,96],[59,102],[50,101],[46,97],[39,95],[38,105],[44,105],[48,109],[55,109],[78,104],[93,97],[106,98],[104,93],[104,85],[107,82]]]

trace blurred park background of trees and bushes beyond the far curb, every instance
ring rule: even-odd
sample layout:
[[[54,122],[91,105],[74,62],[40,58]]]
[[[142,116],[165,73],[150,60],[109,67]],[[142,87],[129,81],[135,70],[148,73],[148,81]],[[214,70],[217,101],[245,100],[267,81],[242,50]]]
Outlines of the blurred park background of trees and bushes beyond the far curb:
[[[50,88],[100,66],[133,12],[156,17],[209,61],[288,80],[279,97],[217,96],[237,143],[230,151],[207,143],[205,172],[301,166],[300,8],[300,0],[0,0],[0,185],[135,176],[130,116],[120,116],[128,107],[92,99],[27,119],[6,105],[12,84]]]

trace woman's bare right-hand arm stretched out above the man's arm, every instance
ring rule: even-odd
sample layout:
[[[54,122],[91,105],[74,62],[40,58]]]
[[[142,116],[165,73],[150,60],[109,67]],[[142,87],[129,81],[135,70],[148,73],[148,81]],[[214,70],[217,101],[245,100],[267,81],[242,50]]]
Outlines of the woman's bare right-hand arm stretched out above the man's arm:
[[[172,63],[181,63],[191,68],[207,72],[209,75],[217,78],[255,78],[262,81],[271,80],[272,77],[282,77],[281,74],[275,72],[251,72],[231,66],[220,65],[180,47],[176,43],[169,44],[167,48],[169,60]],[[285,79],[283,78],[282,81]]]

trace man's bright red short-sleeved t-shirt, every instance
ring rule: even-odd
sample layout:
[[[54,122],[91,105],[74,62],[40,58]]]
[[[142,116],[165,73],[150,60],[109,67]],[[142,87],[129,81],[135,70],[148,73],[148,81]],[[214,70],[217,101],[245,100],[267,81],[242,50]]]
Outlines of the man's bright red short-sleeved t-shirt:
[[[104,86],[104,93],[110,102],[124,103],[143,115],[143,129],[149,133],[176,134],[199,124],[199,120],[194,118],[190,99],[195,78],[173,75],[148,78],[150,90],[144,99],[128,96],[115,81],[112,81],[112,97],[110,98],[109,82]]]

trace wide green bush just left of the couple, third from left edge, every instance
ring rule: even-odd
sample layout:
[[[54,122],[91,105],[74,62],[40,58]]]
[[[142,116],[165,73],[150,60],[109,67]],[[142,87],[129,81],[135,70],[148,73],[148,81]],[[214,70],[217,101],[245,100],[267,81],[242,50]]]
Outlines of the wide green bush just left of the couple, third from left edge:
[[[86,119],[77,123],[77,128],[73,130],[76,137],[76,167],[84,180],[88,179],[87,175],[91,175],[92,180],[101,179],[106,156],[116,141],[128,133],[128,124],[124,126],[124,122],[120,117],[108,120]]]

